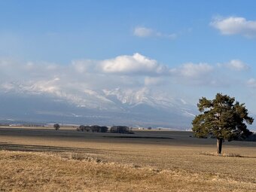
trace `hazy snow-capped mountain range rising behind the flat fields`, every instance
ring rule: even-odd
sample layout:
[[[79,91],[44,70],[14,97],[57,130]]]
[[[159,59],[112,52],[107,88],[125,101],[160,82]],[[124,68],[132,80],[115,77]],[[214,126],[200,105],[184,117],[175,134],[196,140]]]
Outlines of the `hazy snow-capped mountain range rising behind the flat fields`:
[[[0,118],[63,123],[190,127],[194,105],[147,88],[64,92],[44,84],[2,84]]]

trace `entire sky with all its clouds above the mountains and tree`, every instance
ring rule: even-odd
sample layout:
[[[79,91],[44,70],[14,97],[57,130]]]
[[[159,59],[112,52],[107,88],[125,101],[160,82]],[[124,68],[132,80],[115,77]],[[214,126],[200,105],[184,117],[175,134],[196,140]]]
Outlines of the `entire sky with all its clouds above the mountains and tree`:
[[[255,1],[0,1],[0,91],[216,93],[256,114]],[[72,96],[71,96],[72,95]]]

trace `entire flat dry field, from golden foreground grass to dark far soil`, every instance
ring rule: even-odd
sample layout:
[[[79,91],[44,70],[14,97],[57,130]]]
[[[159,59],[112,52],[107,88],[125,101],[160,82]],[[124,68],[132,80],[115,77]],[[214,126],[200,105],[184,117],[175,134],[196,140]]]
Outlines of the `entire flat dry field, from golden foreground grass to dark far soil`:
[[[191,135],[0,128],[0,191],[256,191],[256,142]]]

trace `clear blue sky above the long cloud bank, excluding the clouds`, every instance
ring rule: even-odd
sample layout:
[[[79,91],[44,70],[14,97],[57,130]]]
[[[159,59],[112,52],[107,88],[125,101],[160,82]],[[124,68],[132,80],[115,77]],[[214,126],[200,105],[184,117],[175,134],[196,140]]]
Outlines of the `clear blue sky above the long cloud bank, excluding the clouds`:
[[[250,63],[254,40],[221,36],[209,23],[216,16],[254,20],[254,7],[254,1],[2,1],[1,52],[62,63],[136,52],[169,66],[236,57]],[[177,38],[137,38],[138,26]]]

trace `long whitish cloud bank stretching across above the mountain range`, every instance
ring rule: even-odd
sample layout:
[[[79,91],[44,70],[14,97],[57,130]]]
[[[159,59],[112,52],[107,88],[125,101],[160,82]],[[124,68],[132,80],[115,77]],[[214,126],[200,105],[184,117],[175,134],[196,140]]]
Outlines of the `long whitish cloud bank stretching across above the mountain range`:
[[[235,70],[246,69],[239,60],[228,64]],[[234,81],[230,80],[232,70],[223,70],[227,68],[225,65],[188,62],[171,68],[139,53],[105,60],[74,60],[69,65],[0,59],[0,92],[44,93],[89,105],[86,95],[92,94],[88,90],[100,93],[117,87],[123,90],[154,87],[168,94],[174,87],[226,87]],[[248,86],[256,87],[256,80],[248,81]]]

